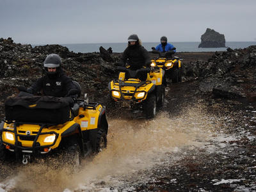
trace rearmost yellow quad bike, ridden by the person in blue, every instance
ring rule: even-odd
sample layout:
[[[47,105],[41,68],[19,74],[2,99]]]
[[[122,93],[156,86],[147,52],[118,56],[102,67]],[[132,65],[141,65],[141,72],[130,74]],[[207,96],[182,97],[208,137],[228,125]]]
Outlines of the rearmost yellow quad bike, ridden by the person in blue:
[[[172,57],[174,51],[160,52],[154,50],[152,47],[152,53],[158,54],[158,57],[152,58],[152,66],[161,67],[165,71],[165,76],[168,79],[172,79],[172,83],[178,83],[182,81],[182,62],[179,57]],[[176,48],[174,48],[176,49]]]

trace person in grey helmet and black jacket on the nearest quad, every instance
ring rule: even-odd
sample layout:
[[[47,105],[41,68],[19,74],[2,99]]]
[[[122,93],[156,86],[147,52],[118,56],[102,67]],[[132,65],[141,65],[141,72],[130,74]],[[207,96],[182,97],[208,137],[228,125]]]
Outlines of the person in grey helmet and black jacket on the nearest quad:
[[[44,61],[46,76],[38,78],[35,83],[28,88],[28,93],[35,94],[43,90],[44,95],[65,97],[69,90],[75,89],[73,81],[64,74],[61,64],[62,61],[58,54],[49,54]],[[76,95],[70,97],[76,101]]]

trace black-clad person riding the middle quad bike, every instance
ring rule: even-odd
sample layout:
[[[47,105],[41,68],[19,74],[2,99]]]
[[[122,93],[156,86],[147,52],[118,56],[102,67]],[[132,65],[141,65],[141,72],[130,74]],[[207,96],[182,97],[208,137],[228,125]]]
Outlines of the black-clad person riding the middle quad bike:
[[[141,40],[136,34],[132,34],[128,37],[128,45],[120,58],[120,65],[125,67],[126,61],[131,70],[137,70],[141,67],[150,67],[150,54],[147,49],[141,45]],[[145,79],[145,77],[143,79]]]

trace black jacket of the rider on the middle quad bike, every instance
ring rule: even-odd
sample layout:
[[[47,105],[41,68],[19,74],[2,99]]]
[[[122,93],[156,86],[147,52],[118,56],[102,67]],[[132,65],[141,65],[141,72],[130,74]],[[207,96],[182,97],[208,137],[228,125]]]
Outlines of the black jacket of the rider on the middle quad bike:
[[[151,59],[147,49],[140,44],[128,46],[120,58],[120,64],[125,67],[126,61],[132,70],[143,66],[150,67]]]

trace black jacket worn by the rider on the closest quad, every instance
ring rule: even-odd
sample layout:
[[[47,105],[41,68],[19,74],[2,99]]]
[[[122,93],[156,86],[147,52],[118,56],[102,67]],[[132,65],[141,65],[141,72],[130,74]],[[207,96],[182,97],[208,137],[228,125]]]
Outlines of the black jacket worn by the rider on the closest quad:
[[[65,97],[70,89],[74,89],[73,81],[64,74],[63,69],[50,78],[48,75],[42,76],[28,88],[28,93],[35,94],[43,89],[43,94],[52,97]]]

